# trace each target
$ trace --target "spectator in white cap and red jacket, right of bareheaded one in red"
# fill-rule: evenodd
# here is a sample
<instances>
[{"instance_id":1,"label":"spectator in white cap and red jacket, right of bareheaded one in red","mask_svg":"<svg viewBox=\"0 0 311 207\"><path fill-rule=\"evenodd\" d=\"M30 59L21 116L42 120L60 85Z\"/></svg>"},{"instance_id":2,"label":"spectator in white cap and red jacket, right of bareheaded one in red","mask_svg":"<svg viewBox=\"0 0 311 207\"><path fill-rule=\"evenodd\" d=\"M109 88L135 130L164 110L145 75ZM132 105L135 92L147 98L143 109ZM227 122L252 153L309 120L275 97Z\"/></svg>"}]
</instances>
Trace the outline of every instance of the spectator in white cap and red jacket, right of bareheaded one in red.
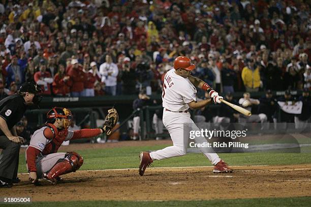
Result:
<instances>
[{"instance_id":1,"label":"spectator in white cap and red jacket, right of bareheaded one in red","mask_svg":"<svg viewBox=\"0 0 311 207\"><path fill-rule=\"evenodd\" d=\"M83 96L86 75L82 70L82 65L78 64L77 59L71 60L71 67L69 68L68 75L73 81L71 87L71 96Z\"/></svg>"}]
</instances>

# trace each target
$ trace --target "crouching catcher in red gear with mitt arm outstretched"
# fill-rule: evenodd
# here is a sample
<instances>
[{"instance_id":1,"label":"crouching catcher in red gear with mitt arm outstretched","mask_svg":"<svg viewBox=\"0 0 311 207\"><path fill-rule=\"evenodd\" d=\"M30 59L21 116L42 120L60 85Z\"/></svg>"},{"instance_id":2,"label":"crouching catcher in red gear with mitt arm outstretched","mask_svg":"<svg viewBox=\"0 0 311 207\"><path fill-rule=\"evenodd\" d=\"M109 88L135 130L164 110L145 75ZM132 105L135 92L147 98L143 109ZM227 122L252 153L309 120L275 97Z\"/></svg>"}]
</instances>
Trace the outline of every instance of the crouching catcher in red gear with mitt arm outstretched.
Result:
<instances>
[{"instance_id":1,"label":"crouching catcher in red gear with mitt arm outstretched","mask_svg":"<svg viewBox=\"0 0 311 207\"><path fill-rule=\"evenodd\" d=\"M108 110L103 127L96 129L70 131L68 127L71 120L71 111L55 107L47 113L47 122L34 132L26 150L29 180L33 183L42 178L55 185L62 180L59 176L79 169L83 164L83 157L76 152L57 153L61 143L104 132L109 135L118 121L118 113L114 108Z\"/></svg>"}]
</instances>

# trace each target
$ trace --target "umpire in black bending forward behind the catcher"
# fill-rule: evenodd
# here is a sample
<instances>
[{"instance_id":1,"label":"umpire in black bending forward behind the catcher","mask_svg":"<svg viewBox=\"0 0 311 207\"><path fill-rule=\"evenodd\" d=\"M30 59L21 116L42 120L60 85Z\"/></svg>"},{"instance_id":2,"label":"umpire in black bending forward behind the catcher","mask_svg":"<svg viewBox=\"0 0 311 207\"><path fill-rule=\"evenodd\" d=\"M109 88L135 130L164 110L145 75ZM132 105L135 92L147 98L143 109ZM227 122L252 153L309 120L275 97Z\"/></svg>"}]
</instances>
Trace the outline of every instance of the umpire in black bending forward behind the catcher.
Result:
<instances>
[{"instance_id":1,"label":"umpire in black bending forward behind the catcher","mask_svg":"<svg viewBox=\"0 0 311 207\"><path fill-rule=\"evenodd\" d=\"M0 101L0 187L10 188L18 183L18 158L23 137L17 136L15 124L23 117L28 106L37 105L42 99L42 89L33 82L20 86L17 93Z\"/></svg>"}]
</instances>

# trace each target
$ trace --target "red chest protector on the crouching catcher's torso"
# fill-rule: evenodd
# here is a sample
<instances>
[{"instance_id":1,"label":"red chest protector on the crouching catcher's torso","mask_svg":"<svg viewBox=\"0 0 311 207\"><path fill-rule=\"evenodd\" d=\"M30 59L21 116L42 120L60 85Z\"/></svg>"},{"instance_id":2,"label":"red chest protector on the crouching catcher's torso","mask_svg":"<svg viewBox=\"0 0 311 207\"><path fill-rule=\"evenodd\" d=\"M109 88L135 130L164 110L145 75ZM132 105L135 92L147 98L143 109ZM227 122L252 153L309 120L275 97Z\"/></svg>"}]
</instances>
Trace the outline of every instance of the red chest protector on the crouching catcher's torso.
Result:
<instances>
[{"instance_id":1,"label":"red chest protector on the crouching catcher's torso","mask_svg":"<svg viewBox=\"0 0 311 207\"><path fill-rule=\"evenodd\" d=\"M60 145L65 141L68 134L68 129L58 130L53 124L45 124L43 126L49 127L54 133L54 138L49 144L47 144L42 151L42 155L48 155L51 153L56 153Z\"/></svg>"}]
</instances>

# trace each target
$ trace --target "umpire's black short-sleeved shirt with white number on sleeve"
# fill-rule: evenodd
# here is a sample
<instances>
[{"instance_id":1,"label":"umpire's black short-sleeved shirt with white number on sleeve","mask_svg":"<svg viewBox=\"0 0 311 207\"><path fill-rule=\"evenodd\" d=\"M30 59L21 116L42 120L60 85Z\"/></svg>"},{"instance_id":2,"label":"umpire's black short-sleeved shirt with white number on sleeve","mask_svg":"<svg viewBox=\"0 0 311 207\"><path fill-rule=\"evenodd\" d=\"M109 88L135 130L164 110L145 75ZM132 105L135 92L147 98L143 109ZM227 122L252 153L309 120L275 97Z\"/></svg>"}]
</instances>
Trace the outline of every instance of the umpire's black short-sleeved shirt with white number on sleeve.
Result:
<instances>
[{"instance_id":1,"label":"umpire's black short-sleeved shirt with white number on sleeve","mask_svg":"<svg viewBox=\"0 0 311 207\"><path fill-rule=\"evenodd\" d=\"M24 98L17 93L0 100L0 116L6 120L9 130L20 121L26 108ZM0 135L5 135L1 129Z\"/></svg>"}]
</instances>

